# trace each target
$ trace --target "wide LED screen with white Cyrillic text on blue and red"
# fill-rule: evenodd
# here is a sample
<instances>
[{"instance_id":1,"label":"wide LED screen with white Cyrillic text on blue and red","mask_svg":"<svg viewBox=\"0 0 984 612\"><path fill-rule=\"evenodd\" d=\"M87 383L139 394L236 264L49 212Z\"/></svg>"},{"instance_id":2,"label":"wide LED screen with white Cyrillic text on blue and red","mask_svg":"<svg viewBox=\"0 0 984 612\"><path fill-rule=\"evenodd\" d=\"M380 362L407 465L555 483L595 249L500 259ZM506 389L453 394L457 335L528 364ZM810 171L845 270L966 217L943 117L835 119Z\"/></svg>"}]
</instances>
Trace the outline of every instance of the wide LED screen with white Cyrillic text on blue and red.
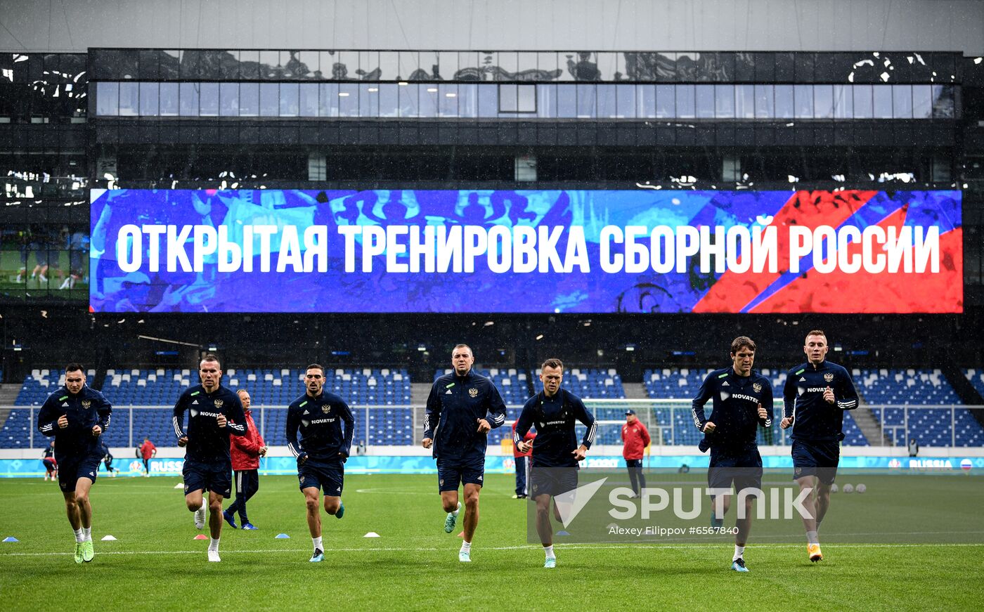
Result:
<instances>
[{"instance_id":1,"label":"wide LED screen with white Cyrillic text on blue and red","mask_svg":"<svg viewBox=\"0 0 984 612\"><path fill-rule=\"evenodd\" d=\"M953 313L957 191L93 190L93 312Z\"/></svg>"}]
</instances>

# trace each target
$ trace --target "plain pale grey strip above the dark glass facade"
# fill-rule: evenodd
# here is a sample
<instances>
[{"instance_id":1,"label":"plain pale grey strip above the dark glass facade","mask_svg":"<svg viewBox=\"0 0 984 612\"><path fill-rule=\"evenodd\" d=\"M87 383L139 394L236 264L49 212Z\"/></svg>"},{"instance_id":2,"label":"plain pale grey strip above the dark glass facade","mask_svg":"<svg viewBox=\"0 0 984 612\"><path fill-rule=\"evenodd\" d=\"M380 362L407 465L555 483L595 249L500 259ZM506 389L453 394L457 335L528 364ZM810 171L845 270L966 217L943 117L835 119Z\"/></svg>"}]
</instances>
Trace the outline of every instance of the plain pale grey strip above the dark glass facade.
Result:
<instances>
[{"instance_id":1,"label":"plain pale grey strip above the dark glass facade","mask_svg":"<svg viewBox=\"0 0 984 612\"><path fill-rule=\"evenodd\" d=\"M922 50L984 0L0 0L0 49Z\"/></svg>"}]
</instances>

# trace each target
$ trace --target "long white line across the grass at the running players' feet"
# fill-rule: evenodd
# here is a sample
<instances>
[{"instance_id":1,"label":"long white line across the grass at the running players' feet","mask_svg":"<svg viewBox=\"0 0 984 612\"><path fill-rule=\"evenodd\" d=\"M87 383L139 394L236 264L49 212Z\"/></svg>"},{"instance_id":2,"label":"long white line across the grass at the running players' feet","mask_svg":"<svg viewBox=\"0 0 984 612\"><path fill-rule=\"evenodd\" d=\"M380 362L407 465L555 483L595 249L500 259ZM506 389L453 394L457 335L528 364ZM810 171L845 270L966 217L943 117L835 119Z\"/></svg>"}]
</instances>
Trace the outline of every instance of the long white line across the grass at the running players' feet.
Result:
<instances>
[{"instance_id":1,"label":"long white line across the grass at the running players' feet","mask_svg":"<svg viewBox=\"0 0 984 612\"><path fill-rule=\"evenodd\" d=\"M674 545L674 544L633 544L631 542L626 542L624 544L570 544L558 545L562 550L582 550L582 549L593 549L593 550L609 550L609 549L625 549L625 548L646 548L646 549L671 549L671 550L706 550L708 548L719 548L719 547L730 547L731 544L690 544L690 545ZM831 549L833 548L934 548L934 547L961 547L961 546L984 546L984 543L922 543L922 544L827 544ZM802 548L802 544L759 544L754 546L755 548ZM534 550L541 548L540 544L523 544L521 546L490 546L487 548L479 548L479 550ZM265 549L265 550L223 550L221 554L236 554L236 555L250 555L250 554L268 554L268 553L302 553L309 552L310 548L275 548L275 549ZM326 548L324 552L436 552L436 551L448 551L450 548L433 548L433 547L414 547L414 546L394 546L394 547L376 547L376 548ZM57 556L71 556L74 553L0 553L0 557L57 557ZM99 551L97 555L201 555L201 550L110 550L110 551Z\"/></svg>"}]
</instances>

